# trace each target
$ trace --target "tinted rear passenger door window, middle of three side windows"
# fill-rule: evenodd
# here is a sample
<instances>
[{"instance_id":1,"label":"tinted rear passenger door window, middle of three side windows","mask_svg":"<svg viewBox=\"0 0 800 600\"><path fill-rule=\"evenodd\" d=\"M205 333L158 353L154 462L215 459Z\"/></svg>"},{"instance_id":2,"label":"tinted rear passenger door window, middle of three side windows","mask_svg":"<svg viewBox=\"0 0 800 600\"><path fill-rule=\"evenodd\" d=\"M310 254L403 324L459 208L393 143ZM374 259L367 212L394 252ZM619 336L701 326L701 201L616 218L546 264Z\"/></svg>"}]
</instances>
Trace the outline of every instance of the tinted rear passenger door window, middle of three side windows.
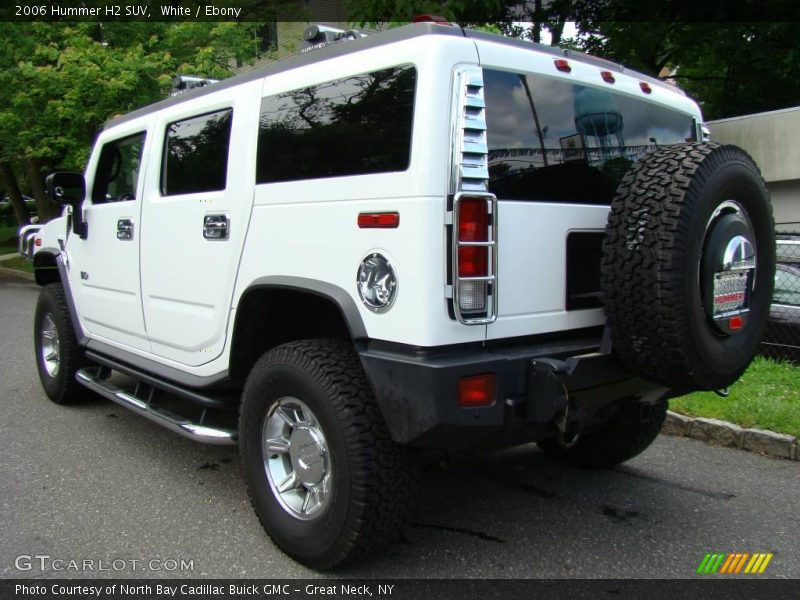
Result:
<instances>
[{"instance_id":1,"label":"tinted rear passenger door window, middle of three side windows","mask_svg":"<svg viewBox=\"0 0 800 600\"><path fill-rule=\"evenodd\" d=\"M167 126L161 193L164 196L224 190L233 110Z\"/></svg>"}]
</instances>

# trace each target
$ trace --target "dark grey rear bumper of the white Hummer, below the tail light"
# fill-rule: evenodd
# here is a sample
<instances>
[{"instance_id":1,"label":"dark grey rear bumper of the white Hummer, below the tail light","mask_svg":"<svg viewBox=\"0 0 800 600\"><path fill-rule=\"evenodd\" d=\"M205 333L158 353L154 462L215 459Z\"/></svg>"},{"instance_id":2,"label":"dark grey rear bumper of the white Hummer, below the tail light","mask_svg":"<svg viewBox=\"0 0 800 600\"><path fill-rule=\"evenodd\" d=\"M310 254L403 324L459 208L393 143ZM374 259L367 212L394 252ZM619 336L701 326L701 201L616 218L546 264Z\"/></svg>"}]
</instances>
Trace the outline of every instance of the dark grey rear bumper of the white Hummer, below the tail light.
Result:
<instances>
[{"instance_id":1,"label":"dark grey rear bumper of the white Hummer, below the tail light","mask_svg":"<svg viewBox=\"0 0 800 600\"><path fill-rule=\"evenodd\" d=\"M371 343L359 354L393 439L420 447L513 445L551 437L564 405L584 424L622 399L657 401L669 390L599 351L600 337L527 345L418 349ZM555 372L553 366L558 370ZM495 402L458 405L458 381L493 373Z\"/></svg>"}]
</instances>

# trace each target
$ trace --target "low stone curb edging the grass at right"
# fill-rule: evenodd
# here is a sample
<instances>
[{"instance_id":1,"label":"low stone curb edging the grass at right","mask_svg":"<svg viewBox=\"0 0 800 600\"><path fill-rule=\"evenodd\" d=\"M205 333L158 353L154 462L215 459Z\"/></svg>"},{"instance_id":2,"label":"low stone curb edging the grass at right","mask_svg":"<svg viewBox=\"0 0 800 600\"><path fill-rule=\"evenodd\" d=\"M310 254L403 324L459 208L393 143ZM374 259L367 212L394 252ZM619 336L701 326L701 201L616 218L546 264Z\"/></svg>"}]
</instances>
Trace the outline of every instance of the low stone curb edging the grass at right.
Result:
<instances>
[{"instance_id":1,"label":"low stone curb edging the grass at right","mask_svg":"<svg viewBox=\"0 0 800 600\"><path fill-rule=\"evenodd\" d=\"M745 429L719 419L687 417L669 410L661 433L688 437L714 446L800 461L800 450L797 448L795 436L764 429Z\"/></svg>"}]
</instances>

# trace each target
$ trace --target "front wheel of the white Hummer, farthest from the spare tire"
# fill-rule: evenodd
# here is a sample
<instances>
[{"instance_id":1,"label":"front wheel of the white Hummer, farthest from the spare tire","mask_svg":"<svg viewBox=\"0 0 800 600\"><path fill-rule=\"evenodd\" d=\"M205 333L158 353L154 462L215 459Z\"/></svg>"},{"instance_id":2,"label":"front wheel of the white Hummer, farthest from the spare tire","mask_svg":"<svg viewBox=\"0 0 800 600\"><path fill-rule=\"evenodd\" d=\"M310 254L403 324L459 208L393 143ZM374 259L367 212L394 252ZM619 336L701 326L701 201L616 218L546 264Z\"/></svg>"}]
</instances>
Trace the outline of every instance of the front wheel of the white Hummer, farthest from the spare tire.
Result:
<instances>
[{"instance_id":1,"label":"front wheel of the white Hummer, farthest from the spare tire","mask_svg":"<svg viewBox=\"0 0 800 600\"><path fill-rule=\"evenodd\" d=\"M39 301L36 303L33 328L36 367L47 397L56 404L80 402L89 392L77 382L75 373L87 363L75 338L75 330L67 308L67 298L60 283L50 283L41 289ZM48 361L45 360L44 329L54 330L58 336L55 349L58 358L57 368L53 367L52 361L48 367Z\"/></svg>"}]
</instances>

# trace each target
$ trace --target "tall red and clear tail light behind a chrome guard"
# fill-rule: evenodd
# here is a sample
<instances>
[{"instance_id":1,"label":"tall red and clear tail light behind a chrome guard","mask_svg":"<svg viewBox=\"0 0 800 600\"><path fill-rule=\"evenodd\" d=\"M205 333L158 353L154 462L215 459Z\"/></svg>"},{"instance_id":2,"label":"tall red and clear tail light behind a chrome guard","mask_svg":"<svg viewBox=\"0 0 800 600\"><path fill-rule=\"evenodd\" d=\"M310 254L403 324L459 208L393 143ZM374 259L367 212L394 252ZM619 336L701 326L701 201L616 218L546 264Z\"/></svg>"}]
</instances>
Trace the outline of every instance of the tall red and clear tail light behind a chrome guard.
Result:
<instances>
[{"instance_id":1,"label":"tall red and clear tail light behind a chrome guard","mask_svg":"<svg viewBox=\"0 0 800 600\"><path fill-rule=\"evenodd\" d=\"M462 323L491 323L496 313L497 200L492 194L462 194L453 211L454 312Z\"/></svg>"}]
</instances>

